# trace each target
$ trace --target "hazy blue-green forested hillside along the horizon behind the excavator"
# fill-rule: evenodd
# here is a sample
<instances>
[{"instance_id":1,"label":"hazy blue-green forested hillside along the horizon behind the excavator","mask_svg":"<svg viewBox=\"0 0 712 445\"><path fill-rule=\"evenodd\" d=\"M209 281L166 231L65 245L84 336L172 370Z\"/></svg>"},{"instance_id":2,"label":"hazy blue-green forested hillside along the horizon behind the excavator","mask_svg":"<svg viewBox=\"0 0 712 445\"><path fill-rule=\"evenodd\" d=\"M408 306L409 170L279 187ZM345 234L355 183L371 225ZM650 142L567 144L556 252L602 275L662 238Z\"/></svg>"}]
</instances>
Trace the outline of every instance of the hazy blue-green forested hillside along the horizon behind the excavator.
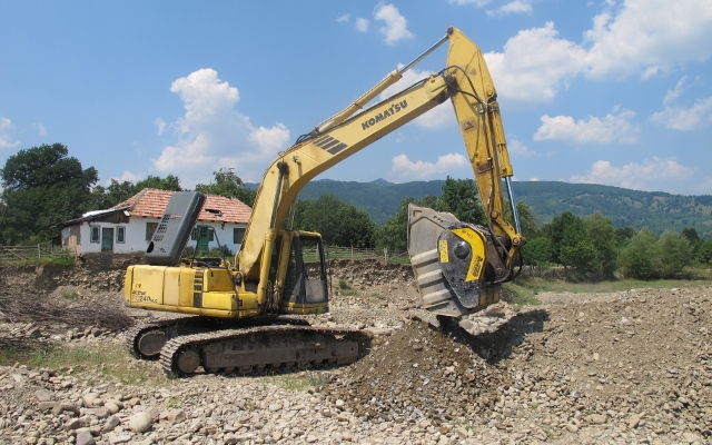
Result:
<instances>
[{"instance_id":1,"label":"hazy blue-green forested hillside along the horizon behind the excavator","mask_svg":"<svg viewBox=\"0 0 712 445\"><path fill-rule=\"evenodd\" d=\"M383 179L372 182L322 179L309 182L299 197L313 200L334 194L366 210L374 222L383 224L395 215L404 198L439 195L443 184L444 180L393 184ZM647 227L656 233L694 227L702 237L712 238L712 195L680 196L557 181L517 181L514 190L517 200L531 206L538 224L548 222L564 211L586 216L599 210L616 227Z\"/></svg>"}]
</instances>

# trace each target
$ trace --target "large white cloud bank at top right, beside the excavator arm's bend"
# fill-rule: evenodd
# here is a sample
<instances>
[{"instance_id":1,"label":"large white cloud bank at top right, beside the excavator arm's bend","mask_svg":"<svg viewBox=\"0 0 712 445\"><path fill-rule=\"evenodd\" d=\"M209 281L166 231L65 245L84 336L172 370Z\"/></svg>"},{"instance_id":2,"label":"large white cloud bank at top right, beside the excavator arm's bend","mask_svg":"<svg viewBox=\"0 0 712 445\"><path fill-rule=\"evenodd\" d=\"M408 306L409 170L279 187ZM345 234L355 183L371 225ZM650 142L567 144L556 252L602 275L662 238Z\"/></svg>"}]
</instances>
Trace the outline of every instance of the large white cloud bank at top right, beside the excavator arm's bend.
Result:
<instances>
[{"instance_id":1,"label":"large white cloud bank at top right, beside the excavator arm's bend","mask_svg":"<svg viewBox=\"0 0 712 445\"><path fill-rule=\"evenodd\" d=\"M521 30L503 52L485 58L502 97L538 102L552 99L580 76L645 79L706 60L712 56L710 41L709 0L625 0L617 6L609 2L580 42L561 38L548 22Z\"/></svg>"}]
</instances>

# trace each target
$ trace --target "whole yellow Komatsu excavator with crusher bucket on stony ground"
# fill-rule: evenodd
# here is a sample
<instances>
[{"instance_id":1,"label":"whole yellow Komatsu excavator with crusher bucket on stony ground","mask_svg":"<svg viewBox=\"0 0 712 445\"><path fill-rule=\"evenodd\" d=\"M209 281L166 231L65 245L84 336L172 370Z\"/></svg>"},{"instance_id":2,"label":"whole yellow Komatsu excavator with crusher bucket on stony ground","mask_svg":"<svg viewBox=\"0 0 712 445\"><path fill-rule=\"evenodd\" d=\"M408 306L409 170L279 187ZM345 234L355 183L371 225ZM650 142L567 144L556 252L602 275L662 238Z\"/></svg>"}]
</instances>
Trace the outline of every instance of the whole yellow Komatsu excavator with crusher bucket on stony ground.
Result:
<instances>
[{"instance_id":1,"label":"whole yellow Komatsu excavator with crusher bucket on stony ground","mask_svg":"<svg viewBox=\"0 0 712 445\"><path fill-rule=\"evenodd\" d=\"M367 107L445 42L446 68ZM459 317L496 303L501 284L515 275L525 243L496 96L481 50L449 28L413 62L279 154L259 185L234 264L180 259L205 197L195 191L174 195L147 249L148 265L127 269L125 298L131 307L184 316L135 327L127 336L131 354L160 359L169 376L340 365L362 357L369 345L365 333L285 317L326 313L329 297L322 237L291 230L290 210L316 175L448 99L488 225L408 208L408 253L421 306L438 316ZM514 225L505 217L504 189Z\"/></svg>"}]
</instances>

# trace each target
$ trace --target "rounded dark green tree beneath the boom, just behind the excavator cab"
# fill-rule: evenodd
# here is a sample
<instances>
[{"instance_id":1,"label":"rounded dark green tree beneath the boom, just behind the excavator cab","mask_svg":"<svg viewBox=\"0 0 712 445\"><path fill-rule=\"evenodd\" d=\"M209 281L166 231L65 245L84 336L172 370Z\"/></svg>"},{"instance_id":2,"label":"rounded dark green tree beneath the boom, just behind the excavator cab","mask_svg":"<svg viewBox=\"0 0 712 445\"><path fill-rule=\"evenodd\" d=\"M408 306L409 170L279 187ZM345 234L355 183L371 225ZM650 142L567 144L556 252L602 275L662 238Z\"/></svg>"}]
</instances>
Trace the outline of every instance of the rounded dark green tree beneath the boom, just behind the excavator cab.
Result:
<instances>
[{"instance_id":1,"label":"rounded dark green tree beneath the boom, just behind the excavator cab","mask_svg":"<svg viewBox=\"0 0 712 445\"><path fill-rule=\"evenodd\" d=\"M317 231L330 245L374 247L375 225L368 214L334 195L297 202L294 227Z\"/></svg>"}]
</instances>

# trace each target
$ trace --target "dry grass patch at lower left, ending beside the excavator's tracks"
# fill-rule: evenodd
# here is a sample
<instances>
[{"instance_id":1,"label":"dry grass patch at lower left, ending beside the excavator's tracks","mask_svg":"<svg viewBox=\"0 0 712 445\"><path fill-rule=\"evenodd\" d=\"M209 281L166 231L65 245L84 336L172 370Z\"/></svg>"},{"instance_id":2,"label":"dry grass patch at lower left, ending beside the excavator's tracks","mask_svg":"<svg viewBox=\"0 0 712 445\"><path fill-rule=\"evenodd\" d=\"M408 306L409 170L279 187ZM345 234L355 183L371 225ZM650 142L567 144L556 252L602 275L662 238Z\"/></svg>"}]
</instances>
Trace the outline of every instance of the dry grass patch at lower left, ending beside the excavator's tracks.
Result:
<instances>
[{"instance_id":1,"label":"dry grass patch at lower left, ending beside the excavator's tracks","mask_svg":"<svg viewBox=\"0 0 712 445\"><path fill-rule=\"evenodd\" d=\"M139 362L122 345L42 345L0 348L0 365L27 365L82 374L96 372L125 385L161 385L167 377L151 363ZM91 378L91 376L90 376Z\"/></svg>"}]
</instances>

